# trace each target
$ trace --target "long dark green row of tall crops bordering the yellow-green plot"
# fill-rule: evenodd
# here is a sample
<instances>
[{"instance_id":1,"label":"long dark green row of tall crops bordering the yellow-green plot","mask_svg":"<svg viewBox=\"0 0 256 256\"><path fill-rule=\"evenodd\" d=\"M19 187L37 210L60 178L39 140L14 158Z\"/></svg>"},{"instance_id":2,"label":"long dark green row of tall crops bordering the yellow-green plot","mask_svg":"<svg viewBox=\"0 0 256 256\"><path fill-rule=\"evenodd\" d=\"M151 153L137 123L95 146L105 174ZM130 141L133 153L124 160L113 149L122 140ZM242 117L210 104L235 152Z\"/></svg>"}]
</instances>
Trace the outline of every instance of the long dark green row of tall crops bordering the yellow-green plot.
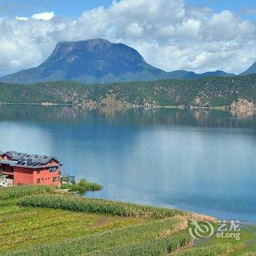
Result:
<instances>
[{"instance_id":1,"label":"long dark green row of tall crops bordering the yellow-green plot","mask_svg":"<svg viewBox=\"0 0 256 256\"><path fill-rule=\"evenodd\" d=\"M59 208L69 211L86 211L96 214L113 214L121 217L173 217L185 214L170 208L143 206L135 203L121 203L112 200L86 197L70 197L64 195L35 195L20 200L20 206Z\"/></svg>"}]
</instances>

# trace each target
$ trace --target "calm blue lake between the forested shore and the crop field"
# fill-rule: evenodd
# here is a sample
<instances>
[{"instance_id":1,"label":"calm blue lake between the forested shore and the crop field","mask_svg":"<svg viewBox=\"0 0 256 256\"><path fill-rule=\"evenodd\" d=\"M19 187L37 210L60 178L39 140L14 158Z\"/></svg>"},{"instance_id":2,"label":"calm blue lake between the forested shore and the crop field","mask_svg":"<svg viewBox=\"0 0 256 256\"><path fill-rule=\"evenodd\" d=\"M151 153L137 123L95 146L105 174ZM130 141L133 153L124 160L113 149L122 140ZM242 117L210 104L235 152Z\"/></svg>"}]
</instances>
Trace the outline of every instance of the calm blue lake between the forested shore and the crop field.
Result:
<instances>
[{"instance_id":1,"label":"calm blue lake between the forested shore and the crop field","mask_svg":"<svg viewBox=\"0 0 256 256\"><path fill-rule=\"evenodd\" d=\"M1 149L54 155L103 184L88 196L256 222L256 116L10 105L0 131Z\"/></svg>"}]
</instances>

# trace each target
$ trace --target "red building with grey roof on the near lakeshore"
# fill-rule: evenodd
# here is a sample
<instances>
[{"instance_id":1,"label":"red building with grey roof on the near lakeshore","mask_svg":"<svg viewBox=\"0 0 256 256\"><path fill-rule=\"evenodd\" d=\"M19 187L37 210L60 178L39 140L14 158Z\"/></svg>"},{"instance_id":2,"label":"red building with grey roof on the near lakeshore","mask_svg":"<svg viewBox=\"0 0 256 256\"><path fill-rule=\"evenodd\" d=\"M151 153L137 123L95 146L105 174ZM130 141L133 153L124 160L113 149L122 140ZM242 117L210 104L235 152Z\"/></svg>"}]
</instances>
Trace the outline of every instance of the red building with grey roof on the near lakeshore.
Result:
<instances>
[{"instance_id":1,"label":"red building with grey roof on the near lakeshore","mask_svg":"<svg viewBox=\"0 0 256 256\"><path fill-rule=\"evenodd\" d=\"M55 157L7 151L0 155L0 173L18 184L60 184L60 162Z\"/></svg>"}]
</instances>

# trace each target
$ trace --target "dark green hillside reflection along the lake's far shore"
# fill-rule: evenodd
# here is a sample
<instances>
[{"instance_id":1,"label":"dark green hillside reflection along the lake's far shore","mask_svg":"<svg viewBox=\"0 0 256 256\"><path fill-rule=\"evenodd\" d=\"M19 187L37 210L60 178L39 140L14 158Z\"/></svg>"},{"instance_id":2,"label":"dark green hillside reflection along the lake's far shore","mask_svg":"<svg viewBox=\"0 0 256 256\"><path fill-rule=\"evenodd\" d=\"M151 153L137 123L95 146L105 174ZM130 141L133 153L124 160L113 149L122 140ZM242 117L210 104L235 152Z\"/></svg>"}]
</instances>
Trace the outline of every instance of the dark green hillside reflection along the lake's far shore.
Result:
<instances>
[{"instance_id":1,"label":"dark green hillside reflection along the lake's far shore","mask_svg":"<svg viewBox=\"0 0 256 256\"><path fill-rule=\"evenodd\" d=\"M104 118L108 124L170 125L192 127L255 128L255 113L230 113L219 110L158 109L150 111L85 109L74 106L2 105L1 121L35 121L72 124L95 122Z\"/></svg>"}]
</instances>

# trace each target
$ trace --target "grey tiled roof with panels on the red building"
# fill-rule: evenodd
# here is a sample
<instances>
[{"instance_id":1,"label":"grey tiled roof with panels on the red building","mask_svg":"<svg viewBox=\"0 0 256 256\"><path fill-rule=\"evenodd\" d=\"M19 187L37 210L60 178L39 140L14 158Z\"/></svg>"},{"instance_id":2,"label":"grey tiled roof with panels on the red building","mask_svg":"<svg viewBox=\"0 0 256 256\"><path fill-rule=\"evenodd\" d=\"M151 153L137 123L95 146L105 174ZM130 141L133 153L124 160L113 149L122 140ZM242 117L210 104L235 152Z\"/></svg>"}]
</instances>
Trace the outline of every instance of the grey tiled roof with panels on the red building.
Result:
<instances>
[{"instance_id":1,"label":"grey tiled roof with panels on the red building","mask_svg":"<svg viewBox=\"0 0 256 256\"><path fill-rule=\"evenodd\" d=\"M7 151L0 156L7 155L9 160L0 159L0 164L8 163L11 166L18 166L18 167L29 167L29 168L39 168L42 165L46 165L50 160L55 160L59 163L59 160L53 156L44 156L39 154L26 154L26 153L19 153L16 151Z\"/></svg>"}]
</instances>

